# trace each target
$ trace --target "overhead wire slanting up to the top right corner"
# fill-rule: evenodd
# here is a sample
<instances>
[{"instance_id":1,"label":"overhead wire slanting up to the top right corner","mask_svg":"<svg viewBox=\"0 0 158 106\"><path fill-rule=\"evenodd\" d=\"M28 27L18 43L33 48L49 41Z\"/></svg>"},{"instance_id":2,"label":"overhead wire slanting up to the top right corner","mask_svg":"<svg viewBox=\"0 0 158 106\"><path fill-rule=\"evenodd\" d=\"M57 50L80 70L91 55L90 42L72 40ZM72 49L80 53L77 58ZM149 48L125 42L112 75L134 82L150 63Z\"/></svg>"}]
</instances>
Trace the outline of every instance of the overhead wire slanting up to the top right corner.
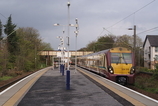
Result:
<instances>
[{"instance_id":1,"label":"overhead wire slanting up to the top right corner","mask_svg":"<svg viewBox=\"0 0 158 106\"><path fill-rule=\"evenodd\" d=\"M120 21L116 22L115 24L113 24L113 25L111 25L111 26L107 27L106 29L109 29L109 28L111 28L111 27L115 26L116 24L118 24L118 23L122 22L122 21L123 21L123 20L125 20L126 18L128 18L128 17L130 17L131 15L133 15L133 14L135 14L135 13L139 12L140 10L142 10L143 8L145 8L146 6L148 6L148 5L150 5L151 3L153 3L154 1L155 1L155 0L153 0L153 1L149 2L149 3L148 3L148 4L146 4L145 6L141 7L141 8L140 8L140 9L138 9L138 10L136 10L136 11L135 11L135 12L133 12L132 14L130 14L130 15L128 15L128 16L126 16L125 18L121 19Z\"/></svg>"}]
</instances>

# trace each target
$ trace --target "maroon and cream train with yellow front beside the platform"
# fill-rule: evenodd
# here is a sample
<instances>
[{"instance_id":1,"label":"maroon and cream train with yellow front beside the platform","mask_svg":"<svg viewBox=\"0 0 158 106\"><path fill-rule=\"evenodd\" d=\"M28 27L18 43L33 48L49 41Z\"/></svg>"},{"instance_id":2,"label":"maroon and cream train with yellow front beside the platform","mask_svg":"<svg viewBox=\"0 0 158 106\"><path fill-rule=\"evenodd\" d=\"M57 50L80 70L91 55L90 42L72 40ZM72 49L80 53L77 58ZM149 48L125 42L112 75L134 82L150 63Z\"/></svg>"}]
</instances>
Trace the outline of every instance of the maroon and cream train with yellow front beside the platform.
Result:
<instances>
[{"instance_id":1,"label":"maroon and cream train with yellow front beside the platform","mask_svg":"<svg viewBox=\"0 0 158 106\"><path fill-rule=\"evenodd\" d=\"M78 65L119 84L134 84L134 56L128 48L116 47L79 57Z\"/></svg>"}]
</instances>

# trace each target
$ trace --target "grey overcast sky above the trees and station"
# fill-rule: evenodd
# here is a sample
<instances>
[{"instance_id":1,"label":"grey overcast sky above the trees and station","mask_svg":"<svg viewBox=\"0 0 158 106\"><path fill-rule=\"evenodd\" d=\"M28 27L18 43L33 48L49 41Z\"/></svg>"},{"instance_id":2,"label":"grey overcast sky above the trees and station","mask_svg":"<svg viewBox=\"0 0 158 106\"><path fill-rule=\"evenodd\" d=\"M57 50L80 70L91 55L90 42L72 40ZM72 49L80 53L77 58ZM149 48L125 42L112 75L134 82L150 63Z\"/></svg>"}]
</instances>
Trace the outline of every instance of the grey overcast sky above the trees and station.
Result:
<instances>
[{"instance_id":1,"label":"grey overcast sky above the trees and station","mask_svg":"<svg viewBox=\"0 0 158 106\"><path fill-rule=\"evenodd\" d=\"M75 24L75 18L79 23L78 49L109 33L132 35L128 28L134 25L143 41L146 35L158 35L158 28L140 33L158 27L158 0L0 0L0 19L6 24L12 14L13 23L37 29L43 41L57 50L60 41L56 37L63 36L63 27L53 24L68 25L68 1L70 24ZM74 31L70 27L70 50L75 49Z\"/></svg>"}]
</instances>

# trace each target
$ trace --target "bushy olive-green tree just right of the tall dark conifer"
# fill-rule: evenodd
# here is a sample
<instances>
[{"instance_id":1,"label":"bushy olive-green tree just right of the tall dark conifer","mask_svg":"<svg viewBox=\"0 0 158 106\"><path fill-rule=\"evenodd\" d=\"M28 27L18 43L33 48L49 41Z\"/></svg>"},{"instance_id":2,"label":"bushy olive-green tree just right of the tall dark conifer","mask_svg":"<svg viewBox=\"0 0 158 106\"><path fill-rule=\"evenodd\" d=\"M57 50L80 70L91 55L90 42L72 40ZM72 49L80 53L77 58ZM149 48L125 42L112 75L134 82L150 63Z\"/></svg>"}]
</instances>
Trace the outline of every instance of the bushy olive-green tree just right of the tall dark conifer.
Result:
<instances>
[{"instance_id":1,"label":"bushy olive-green tree just right of the tall dark conifer","mask_svg":"<svg viewBox=\"0 0 158 106\"><path fill-rule=\"evenodd\" d=\"M48 49L52 50L50 44L42 42L38 30L31 27L19 28L17 36L20 45L20 52L16 60L18 70L31 71L38 68L38 65L42 64L39 60L39 52Z\"/></svg>"}]
</instances>

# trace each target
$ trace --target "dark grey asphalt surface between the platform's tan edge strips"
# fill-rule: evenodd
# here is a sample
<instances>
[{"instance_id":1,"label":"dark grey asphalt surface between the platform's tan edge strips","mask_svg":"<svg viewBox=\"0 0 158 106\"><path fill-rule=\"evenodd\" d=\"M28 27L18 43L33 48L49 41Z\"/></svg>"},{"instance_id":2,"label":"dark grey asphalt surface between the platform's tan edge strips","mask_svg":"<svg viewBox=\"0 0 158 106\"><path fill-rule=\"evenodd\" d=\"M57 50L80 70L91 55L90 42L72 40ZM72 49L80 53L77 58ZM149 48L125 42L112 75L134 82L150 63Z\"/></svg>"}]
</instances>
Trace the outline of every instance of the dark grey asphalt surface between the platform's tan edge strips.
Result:
<instances>
[{"instance_id":1,"label":"dark grey asphalt surface between the platform's tan edge strips","mask_svg":"<svg viewBox=\"0 0 158 106\"><path fill-rule=\"evenodd\" d=\"M70 89L59 69L49 69L28 91L18 106L130 106L121 104L84 75L70 68Z\"/></svg>"}]
</instances>

